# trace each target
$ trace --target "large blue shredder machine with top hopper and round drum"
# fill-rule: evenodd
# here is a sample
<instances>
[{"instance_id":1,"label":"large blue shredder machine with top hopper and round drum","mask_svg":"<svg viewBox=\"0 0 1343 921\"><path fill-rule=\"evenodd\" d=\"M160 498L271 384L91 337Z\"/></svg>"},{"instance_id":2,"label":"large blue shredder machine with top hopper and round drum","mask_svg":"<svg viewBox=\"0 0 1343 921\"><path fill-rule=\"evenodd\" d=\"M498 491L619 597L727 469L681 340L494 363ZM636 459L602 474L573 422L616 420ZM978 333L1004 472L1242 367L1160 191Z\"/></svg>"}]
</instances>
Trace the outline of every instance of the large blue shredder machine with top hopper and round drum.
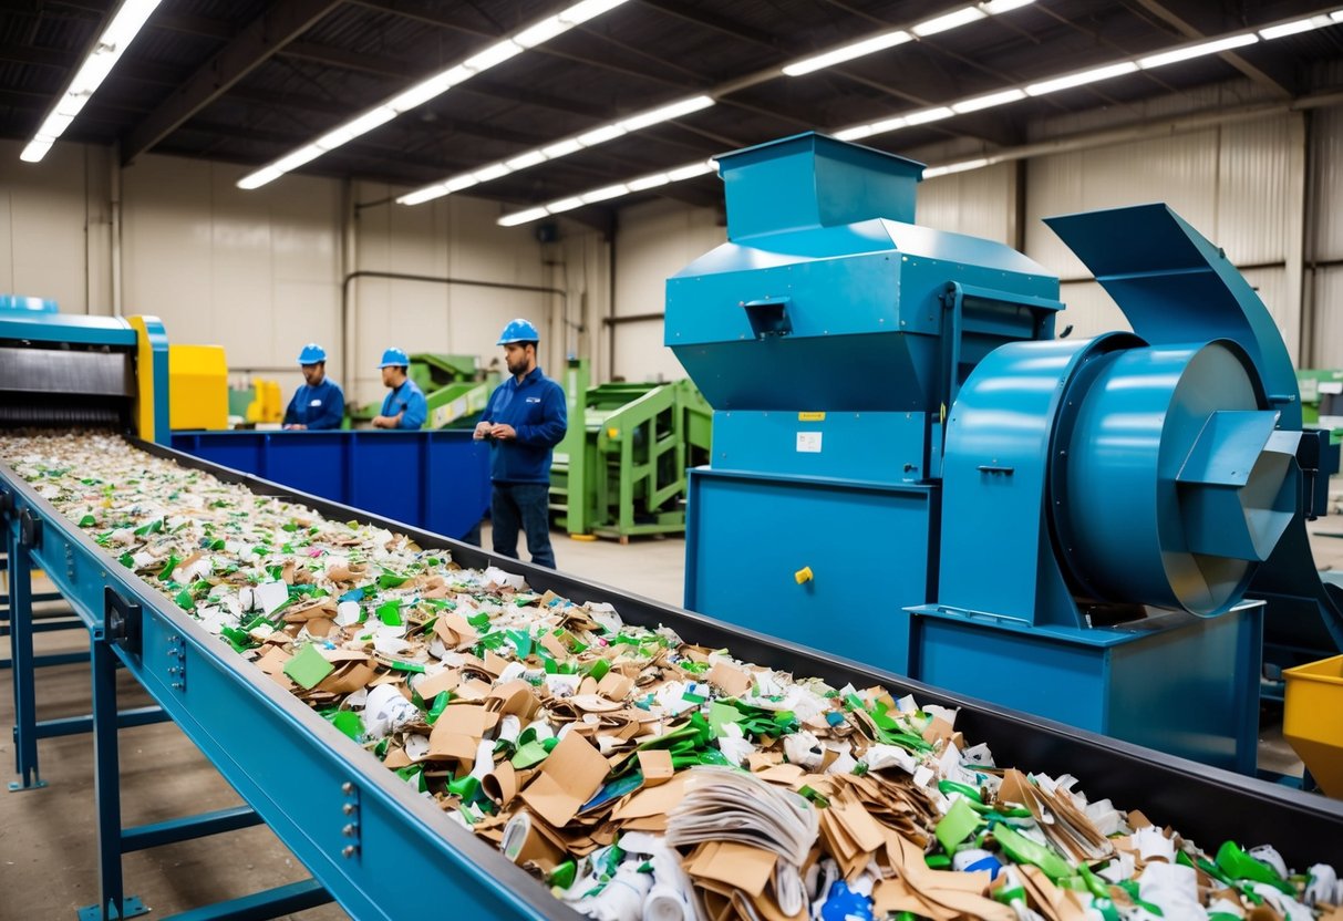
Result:
<instances>
[{"instance_id":1,"label":"large blue shredder machine with top hopper and round drum","mask_svg":"<svg viewBox=\"0 0 1343 921\"><path fill-rule=\"evenodd\" d=\"M1343 648L1303 524L1338 460L1221 251L1164 205L1048 220L1133 329L1056 340L1054 275L913 223L920 164L719 164L728 243L667 281L714 409L686 607L1253 771L1265 630Z\"/></svg>"}]
</instances>

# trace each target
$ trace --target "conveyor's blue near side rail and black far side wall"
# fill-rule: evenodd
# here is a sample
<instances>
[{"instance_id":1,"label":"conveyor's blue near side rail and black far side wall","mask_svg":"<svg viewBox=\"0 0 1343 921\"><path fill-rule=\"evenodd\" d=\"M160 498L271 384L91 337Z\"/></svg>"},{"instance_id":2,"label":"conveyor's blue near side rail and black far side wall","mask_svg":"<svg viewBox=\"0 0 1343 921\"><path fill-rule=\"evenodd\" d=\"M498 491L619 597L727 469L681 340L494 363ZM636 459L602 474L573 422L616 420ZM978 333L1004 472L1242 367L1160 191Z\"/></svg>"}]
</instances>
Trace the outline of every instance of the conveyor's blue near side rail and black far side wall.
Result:
<instances>
[{"instance_id":1,"label":"conveyor's blue near side rail and black far side wall","mask_svg":"<svg viewBox=\"0 0 1343 921\"><path fill-rule=\"evenodd\" d=\"M1054 776L1072 773L1093 800L1105 796L1121 808L1142 810L1205 846L1222 839L1266 840L1292 866L1343 863L1343 808L1338 803L962 701L893 674L821 658L694 614L294 495L274 483L153 444L132 444L224 482L243 483L259 495L302 502L333 520L406 532L422 548L450 549L465 567L504 564L522 573L537 591L553 591L579 604L611 601L626 623L666 626L686 642L729 648L745 662L815 675L837 687L881 683L896 695L912 693L924 704L962 708L956 729L971 741L988 744L998 764ZM8 514L27 522L23 526L32 538L34 557L90 624L106 627L107 589L140 607L138 631L125 631L118 657L352 914L404 917L415 910L435 910L450 891L463 908L475 906L490 917L573 917L528 874L416 796L270 678L239 661L157 589L109 565L89 536L8 467L0 467L0 487L11 495ZM185 679L183 673L169 671L177 667L172 663L185 670ZM302 777L302 783L277 783L277 764L285 765L285 776ZM348 831L352 803L359 816L353 854ZM403 885L400 881L407 878L419 885Z\"/></svg>"}]
</instances>

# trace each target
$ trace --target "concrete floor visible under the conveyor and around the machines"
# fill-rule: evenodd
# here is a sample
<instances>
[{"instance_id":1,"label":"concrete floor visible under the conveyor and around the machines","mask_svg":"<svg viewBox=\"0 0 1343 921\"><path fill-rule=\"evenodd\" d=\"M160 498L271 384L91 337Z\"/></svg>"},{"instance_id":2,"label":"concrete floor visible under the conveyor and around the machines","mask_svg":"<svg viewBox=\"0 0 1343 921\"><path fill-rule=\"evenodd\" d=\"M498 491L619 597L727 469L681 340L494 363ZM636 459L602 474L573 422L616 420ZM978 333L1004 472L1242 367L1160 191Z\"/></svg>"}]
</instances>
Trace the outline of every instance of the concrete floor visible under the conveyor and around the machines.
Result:
<instances>
[{"instance_id":1,"label":"concrete floor visible under the conveyor and around the machines","mask_svg":"<svg viewBox=\"0 0 1343 921\"><path fill-rule=\"evenodd\" d=\"M1343 569L1343 524L1338 518L1312 526L1316 561ZM1327 536L1327 534L1338 536ZM572 541L555 536L561 569L627 592L678 604L685 542L680 538ZM489 530L485 533L489 546ZM40 591L40 587L38 587ZM55 603L55 610L60 604ZM39 654L79 648L78 631L39 635ZM85 648L87 642L83 643ZM0 640L7 657L7 640ZM39 720L89 712L87 666L43 669L39 675ZM150 704L130 675L121 675L121 706ZM0 726L13 725L13 702L0 691ZM1261 745L1261 764L1281 773L1300 773L1300 763L1276 728ZM91 740L67 736L39 745L47 787L0 791L0 921L74 918L98 900L98 865L93 826ZM0 737L0 761L13 763L11 733ZM121 796L126 826L224 808L242 800L214 767L172 724L121 733ZM124 858L125 891L167 917L224 898L295 882L305 869L265 827L158 847ZM349 916L334 905L286 916L334 921Z\"/></svg>"}]
</instances>

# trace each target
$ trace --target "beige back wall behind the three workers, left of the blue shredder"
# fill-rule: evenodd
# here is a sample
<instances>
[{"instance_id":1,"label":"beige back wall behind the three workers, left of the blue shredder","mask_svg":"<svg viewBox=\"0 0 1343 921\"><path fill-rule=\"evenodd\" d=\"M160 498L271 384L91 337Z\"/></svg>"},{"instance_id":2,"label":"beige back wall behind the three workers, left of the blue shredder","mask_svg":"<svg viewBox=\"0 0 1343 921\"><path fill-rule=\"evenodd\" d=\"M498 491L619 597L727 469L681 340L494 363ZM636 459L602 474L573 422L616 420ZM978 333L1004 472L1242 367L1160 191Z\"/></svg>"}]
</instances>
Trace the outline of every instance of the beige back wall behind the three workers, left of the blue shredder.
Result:
<instances>
[{"instance_id":1,"label":"beige back wall behind the three workers, left of the blue shredder","mask_svg":"<svg viewBox=\"0 0 1343 921\"><path fill-rule=\"evenodd\" d=\"M110 314L110 150L58 144L32 165L19 160L20 148L0 141L0 293ZM489 362L500 356L504 324L526 316L545 334L547 369L559 373L565 311L557 295L388 279L351 285L352 354L342 367L341 279L352 269L559 287L569 293L571 330L600 328L608 310L608 246L591 231L565 226L563 242L543 246L535 227L498 227L497 203L384 203L360 209L351 256L341 183L286 176L243 192L234 185L242 172L145 156L121 173L124 313L157 314L172 342L223 345L232 369L297 387L294 358L316 340L346 393L372 401L383 393L375 365L387 345ZM353 188L356 201L389 193ZM575 350L590 346L572 333L569 341Z\"/></svg>"}]
</instances>

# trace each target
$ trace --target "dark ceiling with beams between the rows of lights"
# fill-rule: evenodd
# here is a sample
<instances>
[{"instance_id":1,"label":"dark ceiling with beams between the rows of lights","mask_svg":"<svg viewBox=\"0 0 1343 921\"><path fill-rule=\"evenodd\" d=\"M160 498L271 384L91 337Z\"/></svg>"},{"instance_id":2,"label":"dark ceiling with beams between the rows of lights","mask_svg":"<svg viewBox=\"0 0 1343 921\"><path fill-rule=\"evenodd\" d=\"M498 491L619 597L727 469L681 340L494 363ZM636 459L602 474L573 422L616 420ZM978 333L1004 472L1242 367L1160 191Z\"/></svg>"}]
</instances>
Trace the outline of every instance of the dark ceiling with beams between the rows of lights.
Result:
<instances>
[{"instance_id":1,"label":"dark ceiling with beams between the rows of lights","mask_svg":"<svg viewBox=\"0 0 1343 921\"><path fill-rule=\"evenodd\" d=\"M569 0L164 0L64 140L263 165ZM966 0L630 0L454 87L299 172L424 185L614 118L909 26ZM27 140L113 0L0 5L0 134ZM806 129L838 129L1095 63L1326 9L1301 0L1037 0L471 189L551 201ZM868 140L1026 140L1041 115L1124 106L1248 77L1296 98L1343 58L1343 26L1258 43ZM283 181L281 179L279 181ZM643 193L719 199L712 176ZM633 199L622 199L622 204ZM577 215L576 215L577 216Z\"/></svg>"}]
</instances>

